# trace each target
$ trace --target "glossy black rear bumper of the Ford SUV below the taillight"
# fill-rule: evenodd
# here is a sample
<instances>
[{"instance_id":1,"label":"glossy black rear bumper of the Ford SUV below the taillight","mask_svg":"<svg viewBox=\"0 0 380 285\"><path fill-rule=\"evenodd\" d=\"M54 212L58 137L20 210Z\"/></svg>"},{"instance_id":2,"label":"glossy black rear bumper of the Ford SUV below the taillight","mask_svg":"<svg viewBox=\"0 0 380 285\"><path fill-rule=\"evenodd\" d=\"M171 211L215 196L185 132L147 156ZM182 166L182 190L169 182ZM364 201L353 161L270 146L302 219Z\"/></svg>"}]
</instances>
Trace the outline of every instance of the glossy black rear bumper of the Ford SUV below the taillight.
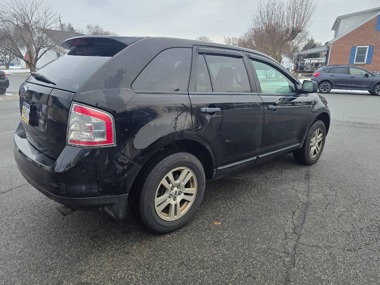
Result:
<instances>
[{"instance_id":1,"label":"glossy black rear bumper of the Ford SUV below the taillight","mask_svg":"<svg viewBox=\"0 0 380 285\"><path fill-rule=\"evenodd\" d=\"M21 174L38 191L77 210L103 210L121 220L140 166L117 147L65 146L57 160L35 149L22 123L14 134L14 158Z\"/></svg>"}]
</instances>

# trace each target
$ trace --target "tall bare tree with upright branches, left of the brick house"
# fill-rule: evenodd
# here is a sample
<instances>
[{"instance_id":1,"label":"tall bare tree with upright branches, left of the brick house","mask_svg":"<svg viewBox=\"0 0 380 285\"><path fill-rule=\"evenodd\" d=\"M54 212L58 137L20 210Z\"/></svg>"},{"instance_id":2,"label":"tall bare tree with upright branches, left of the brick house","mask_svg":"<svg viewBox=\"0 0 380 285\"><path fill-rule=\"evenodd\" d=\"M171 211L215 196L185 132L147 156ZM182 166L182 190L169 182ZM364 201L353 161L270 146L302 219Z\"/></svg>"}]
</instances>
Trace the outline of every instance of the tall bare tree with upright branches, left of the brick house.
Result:
<instances>
[{"instance_id":1,"label":"tall bare tree with upright branches, left of the brick house","mask_svg":"<svg viewBox=\"0 0 380 285\"><path fill-rule=\"evenodd\" d=\"M313 23L318 0L261 0L239 45L281 62L284 52L298 49Z\"/></svg>"}]
</instances>

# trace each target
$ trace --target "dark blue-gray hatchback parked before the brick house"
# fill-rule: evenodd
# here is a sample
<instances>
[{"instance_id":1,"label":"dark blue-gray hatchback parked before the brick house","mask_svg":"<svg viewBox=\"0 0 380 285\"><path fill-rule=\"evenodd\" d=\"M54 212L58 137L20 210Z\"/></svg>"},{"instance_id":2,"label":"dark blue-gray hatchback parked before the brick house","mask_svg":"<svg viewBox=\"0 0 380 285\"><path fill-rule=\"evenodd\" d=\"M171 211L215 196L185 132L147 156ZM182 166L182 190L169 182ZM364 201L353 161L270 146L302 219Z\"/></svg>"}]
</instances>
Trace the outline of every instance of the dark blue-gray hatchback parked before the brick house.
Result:
<instances>
[{"instance_id":1,"label":"dark blue-gray hatchback parked before the brick house","mask_svg":"<svg viewBox=\"0 0 380 285\"><path fill-rule=\"evenodd\" d=\"M380 76L355 65L328 65L319 68L312 77L321 93L329 93L331 89L367 90L380 96Z\"/></svg>"}]
</instances>

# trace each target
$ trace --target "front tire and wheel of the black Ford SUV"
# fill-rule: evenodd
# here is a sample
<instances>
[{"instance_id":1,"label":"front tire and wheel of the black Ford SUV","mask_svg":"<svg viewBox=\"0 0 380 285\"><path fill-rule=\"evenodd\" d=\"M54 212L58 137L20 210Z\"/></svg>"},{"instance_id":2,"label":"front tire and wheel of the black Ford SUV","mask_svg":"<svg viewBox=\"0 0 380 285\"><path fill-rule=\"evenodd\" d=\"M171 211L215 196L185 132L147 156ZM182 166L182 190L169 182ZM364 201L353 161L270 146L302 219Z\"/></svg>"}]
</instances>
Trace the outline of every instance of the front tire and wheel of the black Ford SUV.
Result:
<instances>
[{"instance_id":1,"label":"front tire and wheel of the black Ford SUV","mask_svg":"<svg viewBox=\"0 0 380 285\"><path fill-rule=\"evenodd\" d=\"M318 120L310 127L302 147L293 151L294 159L298 163L305 165L316 163L322 154L325 141L325 124L321 120Z\"/></svg>"}]
</instances>

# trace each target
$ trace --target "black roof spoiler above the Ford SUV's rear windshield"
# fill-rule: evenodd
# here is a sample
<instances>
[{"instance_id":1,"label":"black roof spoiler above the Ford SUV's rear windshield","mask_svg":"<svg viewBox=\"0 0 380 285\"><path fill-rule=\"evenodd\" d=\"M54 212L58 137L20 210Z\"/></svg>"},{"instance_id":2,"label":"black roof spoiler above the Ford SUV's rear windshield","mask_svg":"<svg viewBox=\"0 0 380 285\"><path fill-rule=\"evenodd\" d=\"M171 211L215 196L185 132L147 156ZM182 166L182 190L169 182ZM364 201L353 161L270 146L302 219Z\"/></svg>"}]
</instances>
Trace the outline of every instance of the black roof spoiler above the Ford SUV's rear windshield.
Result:
<instances>
[{"instance_id":1,"label":"black roof spoiler above the Ford SUV's rear windshield","mask_svg":"<svg viewBox=\"0 0 380 285\"><path fill-rule=\"evenodd\" d=\"M123 44L125 46L141 40L145 37L142 36L75 36L65 40L61 46L65 49L73 49L79 46L87 46L94 44Z\"/></svg>"}]
</instances>

